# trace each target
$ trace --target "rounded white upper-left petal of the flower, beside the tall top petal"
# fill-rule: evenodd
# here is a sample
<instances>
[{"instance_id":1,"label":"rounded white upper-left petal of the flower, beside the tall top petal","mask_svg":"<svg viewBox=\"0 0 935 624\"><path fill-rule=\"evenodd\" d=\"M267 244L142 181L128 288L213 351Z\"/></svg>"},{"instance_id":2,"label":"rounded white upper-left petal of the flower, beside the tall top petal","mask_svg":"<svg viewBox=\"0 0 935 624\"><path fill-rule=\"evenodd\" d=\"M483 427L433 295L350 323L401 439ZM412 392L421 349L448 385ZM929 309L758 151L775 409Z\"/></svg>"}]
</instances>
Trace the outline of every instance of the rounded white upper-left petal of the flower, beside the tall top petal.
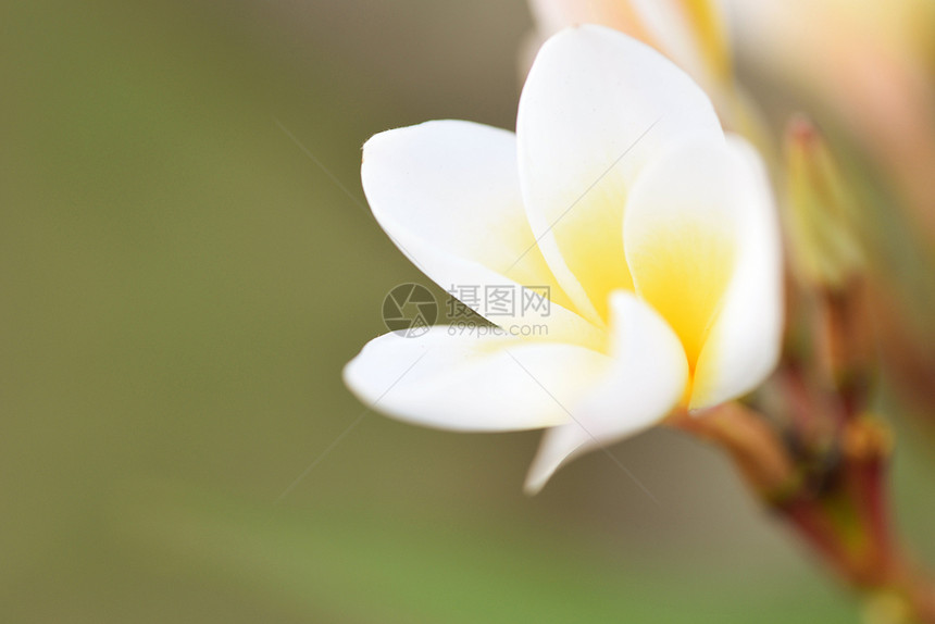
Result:
<instances>
[{"instance_id":1,"label":"rounded white upper-left petal of the flower, beside the tall top petal","mask_svg":"<svg viewBox=\"0 0 935 624\"><path fill-rule=\"evenodd\" d=\"M552 307L536 323L549 338L591 344L600 332L571 303L536 247L520 196L512 133L469 122L428 122L381 133L363 148L361 180L381 226L446 290L546 286ZM531 290L535 295L538 290ZM470 301L464 301L471 305ZM484 314L483 305L472 305ZM520 307L491 319L528 323Z\"/></svg>"}]
</instances>

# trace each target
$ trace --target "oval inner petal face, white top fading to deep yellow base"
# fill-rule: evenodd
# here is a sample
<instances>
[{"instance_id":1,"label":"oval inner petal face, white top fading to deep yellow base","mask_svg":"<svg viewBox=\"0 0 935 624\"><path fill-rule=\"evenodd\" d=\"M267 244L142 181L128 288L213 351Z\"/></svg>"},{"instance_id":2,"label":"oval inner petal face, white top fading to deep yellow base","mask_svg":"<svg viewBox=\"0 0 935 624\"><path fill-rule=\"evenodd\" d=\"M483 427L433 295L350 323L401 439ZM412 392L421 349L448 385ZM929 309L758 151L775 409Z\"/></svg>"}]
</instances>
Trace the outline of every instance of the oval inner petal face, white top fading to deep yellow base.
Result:
<instances>
[{"instance_id":1,"label":"oval inner petal face, white top fading to deep yellow base","mask_svg":"<svg viewBox=\"0 0 935 624\"><path fill-rule=\"evenodd\" d=\"M738 219L730 153L695 138L647 167L624 220L636 291L672 326L694 372L738 261Z\"/></svg>"}]
</instances>

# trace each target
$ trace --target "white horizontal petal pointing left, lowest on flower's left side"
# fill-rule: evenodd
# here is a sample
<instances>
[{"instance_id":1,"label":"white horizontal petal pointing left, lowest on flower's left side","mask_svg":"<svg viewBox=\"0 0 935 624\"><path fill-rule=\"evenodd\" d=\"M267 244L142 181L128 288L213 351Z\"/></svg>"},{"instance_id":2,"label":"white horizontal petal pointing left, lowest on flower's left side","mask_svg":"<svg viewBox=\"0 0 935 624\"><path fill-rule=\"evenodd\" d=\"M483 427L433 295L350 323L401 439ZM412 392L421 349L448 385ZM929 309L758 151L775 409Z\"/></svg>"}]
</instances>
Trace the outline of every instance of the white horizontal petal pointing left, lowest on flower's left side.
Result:
<instances>
[{"instance_id":1,"label":"white horizontal petal pointing left, lowest on flower's left side","mask_svg":"<svg viewBox=\"0 0 935 624\"><path fill-rule=\"evenodd\" d=\"M386 334L371 340L345 367L344 378L364 404L399 420L502 432L568 422L564 405L610 363L607 355L574 345L478 337L438 325L421 337Z\"/></svg>"}]
</instances>

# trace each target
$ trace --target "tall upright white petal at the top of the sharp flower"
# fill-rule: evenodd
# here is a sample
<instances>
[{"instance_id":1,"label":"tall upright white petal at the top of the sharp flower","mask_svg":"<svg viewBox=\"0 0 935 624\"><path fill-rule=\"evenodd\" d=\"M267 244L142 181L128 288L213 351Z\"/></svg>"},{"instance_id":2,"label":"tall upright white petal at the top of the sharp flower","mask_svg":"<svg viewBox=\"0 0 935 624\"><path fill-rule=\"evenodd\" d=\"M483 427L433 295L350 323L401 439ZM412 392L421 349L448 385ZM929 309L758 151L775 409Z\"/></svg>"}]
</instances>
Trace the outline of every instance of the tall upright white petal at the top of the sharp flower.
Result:
<instances>
[{"instance_id":1,"label":"tall upright white petal at the top of the sharp flower","mask_svg":"<svg viewBox=\"0 0 935 624\"><path fill-rule=\"evenodd\" d=\"M671 61L601 26L549 39L520 98L520 180L533 233L595 323L632 288L620 237L633 180L674 139L723 136L708 97Z\"/></svg>"}]
</instances>

